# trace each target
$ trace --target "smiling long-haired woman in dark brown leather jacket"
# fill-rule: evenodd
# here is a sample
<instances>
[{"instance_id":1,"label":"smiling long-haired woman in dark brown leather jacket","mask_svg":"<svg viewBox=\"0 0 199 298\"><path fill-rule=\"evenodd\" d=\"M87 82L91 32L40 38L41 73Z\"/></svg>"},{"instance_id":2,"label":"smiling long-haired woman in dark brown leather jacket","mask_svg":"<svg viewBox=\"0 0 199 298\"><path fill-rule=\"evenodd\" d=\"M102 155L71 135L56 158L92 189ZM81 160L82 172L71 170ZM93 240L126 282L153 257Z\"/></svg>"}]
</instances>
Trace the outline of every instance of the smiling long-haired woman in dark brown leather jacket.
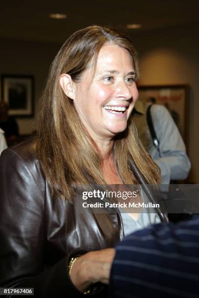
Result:
<instances>
[{"instance_id":1,"label":"smiling long-haired woman in dark brown leather jacket","mask_svg":"<svg viewBox=\"0 0 199 298\"><path fill-rule=\"evenodd\" d=\"M146 184L159 183L159 169L130 117L138 75L134 47L113 29L84 28L61 47L37 135L0 158L0 286L34 287L42 298L107 297L110 247L141 225L139 214L83 208L78 186L118 184L126 192L125 184L141 183L153 201ZM166 220L154 212L142 216L143 226Z\"/></svg>"}]
</instances>

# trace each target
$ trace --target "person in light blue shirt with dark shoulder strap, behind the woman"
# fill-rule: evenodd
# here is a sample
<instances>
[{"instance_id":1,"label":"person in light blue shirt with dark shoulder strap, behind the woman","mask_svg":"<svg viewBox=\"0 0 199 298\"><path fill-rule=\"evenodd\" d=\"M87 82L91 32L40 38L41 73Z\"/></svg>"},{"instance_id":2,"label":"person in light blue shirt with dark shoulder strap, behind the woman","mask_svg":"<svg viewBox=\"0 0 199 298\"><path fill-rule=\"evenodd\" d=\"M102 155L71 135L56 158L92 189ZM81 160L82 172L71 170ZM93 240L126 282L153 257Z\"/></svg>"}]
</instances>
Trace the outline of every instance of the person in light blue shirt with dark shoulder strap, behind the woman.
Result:
<instances>
[{"instance_id":1,"label":"person in light blue shirt with dark shoulder strap, behind the woman","mask_svg":"<svg viewBox=\"0 0 199 298\"><path fill-rule=\"evenodd\" d=\"M171 180L184 180L189 174L191 164L179 130L170 114L163 106L152 104L150 112L159 147L153 143L147 123L147 109L150 103L137 101L132 113L139 136L148 153L161 170L162 185Z\"/></svg>"}]
</instances>

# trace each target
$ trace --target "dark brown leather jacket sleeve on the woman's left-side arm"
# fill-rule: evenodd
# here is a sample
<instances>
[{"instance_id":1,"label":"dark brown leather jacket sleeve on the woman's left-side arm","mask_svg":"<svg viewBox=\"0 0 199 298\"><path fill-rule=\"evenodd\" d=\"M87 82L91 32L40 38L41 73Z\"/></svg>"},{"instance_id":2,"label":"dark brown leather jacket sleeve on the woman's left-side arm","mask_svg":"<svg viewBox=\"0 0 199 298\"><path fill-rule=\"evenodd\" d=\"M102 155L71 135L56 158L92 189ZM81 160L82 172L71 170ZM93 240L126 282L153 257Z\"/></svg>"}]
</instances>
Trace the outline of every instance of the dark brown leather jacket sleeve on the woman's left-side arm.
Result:
<instances>
[{"instance_id":1,"label":"dark brown leather jacket sleeve on the woman's left-side arm","mask_svg":"<svg viewBox=\"0 0 199 298\"><path fill-rule=\"evenodd\" d=\"M32 169L15 151L4 150L0 157L0 287L32 287L35 297L42 298L82 297L68 276L68 256L45 268L44 205L44 191Z\"/></svg>"}]
</instances>

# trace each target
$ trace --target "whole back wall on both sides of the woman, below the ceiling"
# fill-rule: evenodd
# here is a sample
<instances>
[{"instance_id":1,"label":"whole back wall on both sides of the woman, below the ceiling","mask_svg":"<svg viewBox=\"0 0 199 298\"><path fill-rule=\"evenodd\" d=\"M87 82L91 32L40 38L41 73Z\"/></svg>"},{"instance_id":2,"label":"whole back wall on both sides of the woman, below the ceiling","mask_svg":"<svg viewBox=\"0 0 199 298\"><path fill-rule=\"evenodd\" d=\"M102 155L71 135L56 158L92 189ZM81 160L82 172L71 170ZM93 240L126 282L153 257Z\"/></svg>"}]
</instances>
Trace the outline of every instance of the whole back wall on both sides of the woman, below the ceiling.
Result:
<instances>
[{"instance_id":1,"label":"whole back wall on both sides of the woman, below the ceiling","mask_svg":"<svg viewBox=\"0 0 199 298\"><path fill-rule=\"evenodd\" d=\"M199 25L141 32L132 35L140 57L140 84L189 84L190 181L199 184ZM59 44L0 40L0 74L35 76L37 109L50 63ZM18 118L20 133L31 133L34 118Z\"/></svg>"}]
</instances>

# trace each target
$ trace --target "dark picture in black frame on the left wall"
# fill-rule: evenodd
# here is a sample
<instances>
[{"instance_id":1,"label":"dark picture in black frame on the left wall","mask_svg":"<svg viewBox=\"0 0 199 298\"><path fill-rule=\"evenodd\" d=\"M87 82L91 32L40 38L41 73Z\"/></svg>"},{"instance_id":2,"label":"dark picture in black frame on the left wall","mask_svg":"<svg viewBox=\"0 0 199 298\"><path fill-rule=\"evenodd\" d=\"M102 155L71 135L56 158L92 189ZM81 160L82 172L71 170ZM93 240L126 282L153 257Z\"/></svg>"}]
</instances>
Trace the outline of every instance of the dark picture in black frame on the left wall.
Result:
<instances>
[{"instance_id":1,"label":"dark picture in black frame on the left wall","mask_svg":"<svg viewBox=\"0 0 199 298\"><path fill-rule=\"evenodd\" d=\"M34 77L32 75L1 75L1 98L9 104L10 116L32 116Z\"/></svg>"}]
</instances>

